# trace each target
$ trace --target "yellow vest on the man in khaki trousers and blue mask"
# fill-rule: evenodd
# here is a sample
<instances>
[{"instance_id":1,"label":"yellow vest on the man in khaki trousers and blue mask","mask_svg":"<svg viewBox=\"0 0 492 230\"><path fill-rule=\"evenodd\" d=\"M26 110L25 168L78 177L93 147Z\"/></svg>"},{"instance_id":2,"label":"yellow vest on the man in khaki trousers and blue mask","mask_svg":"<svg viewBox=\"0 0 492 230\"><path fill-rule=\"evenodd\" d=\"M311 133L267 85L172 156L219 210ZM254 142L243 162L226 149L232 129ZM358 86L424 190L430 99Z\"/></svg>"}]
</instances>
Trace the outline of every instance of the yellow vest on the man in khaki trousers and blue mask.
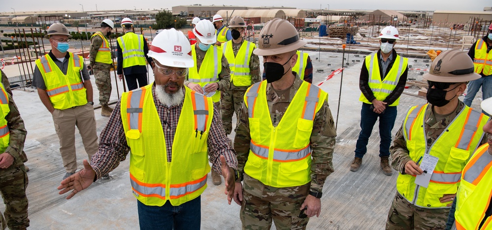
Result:
<instances>
[{"instance_id":1,"label":"yellow vest on the man in khaki trousers and blue mask","mask_svg":"<svg viewBox=\"0 0 492 230\"><path fill-rule=\"evenodd\" d=\"M49 55L36 60L37 68L46 85L46 93L53 107L58 110L87 104L86 88L82 83L84 62L78 55L69 54L66 75Z\"/></svg>"}]
</instances>

